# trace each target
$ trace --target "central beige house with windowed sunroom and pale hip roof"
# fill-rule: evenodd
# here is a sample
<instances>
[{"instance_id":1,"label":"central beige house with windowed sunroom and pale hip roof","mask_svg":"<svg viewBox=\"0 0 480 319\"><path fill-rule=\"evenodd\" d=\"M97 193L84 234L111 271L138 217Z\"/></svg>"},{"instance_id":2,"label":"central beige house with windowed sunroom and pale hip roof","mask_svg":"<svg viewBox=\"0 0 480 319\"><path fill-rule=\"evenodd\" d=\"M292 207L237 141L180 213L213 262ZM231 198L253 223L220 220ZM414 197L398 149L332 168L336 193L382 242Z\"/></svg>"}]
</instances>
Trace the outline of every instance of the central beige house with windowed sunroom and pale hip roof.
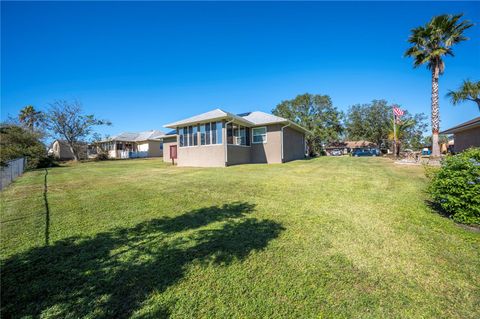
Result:
<instances>
[{"instance_id":1,"label":"central beige house with windowed sunroom and pale hip roof","mask_svg":"<svg viewBox=\"0 0 480 319\"><path fill-rule=\"evenodd\" d=\"M164 143L177 155L179 166L283 163L305 158L308 130L264 112L236 115L215 109L165 127L176 131Z\"/></svg>"}]
</instances>

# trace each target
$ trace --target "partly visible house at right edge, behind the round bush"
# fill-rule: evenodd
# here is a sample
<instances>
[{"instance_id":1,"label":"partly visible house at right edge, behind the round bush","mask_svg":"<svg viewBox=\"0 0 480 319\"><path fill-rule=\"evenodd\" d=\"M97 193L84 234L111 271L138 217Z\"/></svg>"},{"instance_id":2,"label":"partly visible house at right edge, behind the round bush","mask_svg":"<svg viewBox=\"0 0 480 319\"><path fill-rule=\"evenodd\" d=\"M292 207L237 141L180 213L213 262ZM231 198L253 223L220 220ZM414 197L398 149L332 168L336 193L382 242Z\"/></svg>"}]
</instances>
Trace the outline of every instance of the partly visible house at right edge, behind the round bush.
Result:
<instances>
[{"instance_id":1,"label":"partly visible house at right edge, behind the round bush","mask_svg":"<svg viewBox=\"0 0 480 319\"><path fill-rule=\"evenodd\" d=\"M470 147L480 147L480 117L459 124L440 134L453 134L453 152L458 153Z\"/></svg>"}]
</instances>

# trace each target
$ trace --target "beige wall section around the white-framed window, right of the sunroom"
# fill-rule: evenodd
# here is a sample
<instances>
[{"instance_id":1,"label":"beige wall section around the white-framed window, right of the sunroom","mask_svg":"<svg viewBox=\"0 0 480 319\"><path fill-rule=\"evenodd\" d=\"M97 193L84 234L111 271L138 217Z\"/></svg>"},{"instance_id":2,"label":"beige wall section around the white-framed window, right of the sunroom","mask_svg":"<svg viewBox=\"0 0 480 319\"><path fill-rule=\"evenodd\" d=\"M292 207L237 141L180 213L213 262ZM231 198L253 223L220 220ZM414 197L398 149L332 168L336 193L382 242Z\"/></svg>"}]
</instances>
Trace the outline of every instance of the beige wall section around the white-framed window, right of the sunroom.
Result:
<instances>
[{"instance_id":1,"label":"beige wall section around the white-framed window, right of the sunroom","mask_svg":"<svg viewBox=\"0 0 480 319\"><path fill-rule=\"evenodd\" d=\"M262 144L251 143L252 163L281 163L281 125L267 125L267 142ZM251 134L253 141L253 130Z\"/></svg>"}]
</instances>

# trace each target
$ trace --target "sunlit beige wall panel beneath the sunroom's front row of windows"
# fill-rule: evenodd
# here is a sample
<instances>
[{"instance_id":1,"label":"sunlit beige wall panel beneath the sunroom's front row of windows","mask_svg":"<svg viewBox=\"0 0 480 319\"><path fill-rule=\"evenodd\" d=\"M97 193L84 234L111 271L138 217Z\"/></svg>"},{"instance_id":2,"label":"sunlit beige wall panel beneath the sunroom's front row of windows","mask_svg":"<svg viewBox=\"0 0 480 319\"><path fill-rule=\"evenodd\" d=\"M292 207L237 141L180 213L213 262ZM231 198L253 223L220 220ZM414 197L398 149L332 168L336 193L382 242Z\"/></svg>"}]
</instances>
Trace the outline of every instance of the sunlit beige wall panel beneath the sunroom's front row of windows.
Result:
<instances>
[{"instance_id":1,"label":"sunlit beige wall panel beneath the sunroom's front row of windows","mask_svg":"<svg viewBox=\"0 0 480 319\"><path fill-rule=\"evenodd\" d=\"M178 166L225 166L225 145L204 145L177 148Z\"/></svg>"}]
</instances>

